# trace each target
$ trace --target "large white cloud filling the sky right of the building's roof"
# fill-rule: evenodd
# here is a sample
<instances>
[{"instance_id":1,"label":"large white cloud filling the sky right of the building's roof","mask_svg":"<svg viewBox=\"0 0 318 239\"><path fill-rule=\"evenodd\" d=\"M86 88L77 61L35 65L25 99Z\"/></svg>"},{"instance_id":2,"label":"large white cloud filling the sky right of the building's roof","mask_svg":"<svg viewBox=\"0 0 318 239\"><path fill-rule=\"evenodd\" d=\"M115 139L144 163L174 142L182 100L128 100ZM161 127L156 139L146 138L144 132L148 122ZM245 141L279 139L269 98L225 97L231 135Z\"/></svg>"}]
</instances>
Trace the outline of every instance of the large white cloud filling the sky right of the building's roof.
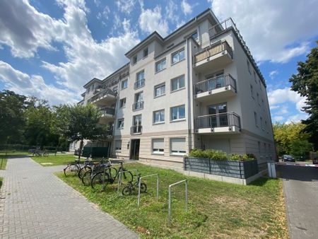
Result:
<instances>
[{"instance_id":1,"label":"large white cloud filling the sky right of the building's roof","mask_svg":"<svg viewBox=\"0 0 318 239\"><path fill-rule=\"evenodd\" d=\"M208 0L220 20L232 17L257 62L288 62L317 36L318 1Z\"/></svg>"}]
</instances>

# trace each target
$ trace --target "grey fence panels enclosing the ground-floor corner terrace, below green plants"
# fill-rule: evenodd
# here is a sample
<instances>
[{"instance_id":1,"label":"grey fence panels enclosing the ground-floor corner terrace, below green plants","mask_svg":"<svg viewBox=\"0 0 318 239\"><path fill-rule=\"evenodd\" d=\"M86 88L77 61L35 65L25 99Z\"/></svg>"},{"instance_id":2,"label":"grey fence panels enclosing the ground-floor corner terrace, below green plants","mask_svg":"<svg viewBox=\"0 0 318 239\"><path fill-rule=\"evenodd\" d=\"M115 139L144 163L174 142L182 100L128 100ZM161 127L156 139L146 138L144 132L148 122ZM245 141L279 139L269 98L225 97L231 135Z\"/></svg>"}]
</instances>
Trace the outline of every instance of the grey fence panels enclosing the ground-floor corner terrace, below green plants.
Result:
<instances>
[{"instance_id":1,"label":"grey fence panels enclosing the ground-floor corner terrace, below green plants","mask_svg":"<svg viewBox=\"0 0 318 239\"><path fill-rule=\"evenodd\" d=\"M184 158L184 170L245 179L259 173L257 160L218 161L192 157Z\"/></svg>"}]
</instances>

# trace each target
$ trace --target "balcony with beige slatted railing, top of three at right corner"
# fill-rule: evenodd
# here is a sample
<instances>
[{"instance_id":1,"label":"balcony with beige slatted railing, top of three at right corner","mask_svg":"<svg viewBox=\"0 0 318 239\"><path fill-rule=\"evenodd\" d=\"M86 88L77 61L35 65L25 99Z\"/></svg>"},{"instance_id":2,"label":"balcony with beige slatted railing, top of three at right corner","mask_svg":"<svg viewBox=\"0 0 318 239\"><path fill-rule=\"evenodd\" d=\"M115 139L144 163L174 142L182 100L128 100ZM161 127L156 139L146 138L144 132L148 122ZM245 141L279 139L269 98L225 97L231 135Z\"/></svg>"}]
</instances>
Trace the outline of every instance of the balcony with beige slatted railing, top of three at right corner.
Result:
<instances>
[{"instance_id":1,"label":"balcony with beige slatted railing, top of three at right corner","mask_svg":"<svg viewBox=\"0 0 318 239\"><path fill-rule=\"evenodd\" d=\"M196 71L220 69L232 62L232 57L232 48L228 42L217 42L194 55L194 69Z\"/></svg>"}]
</instances>

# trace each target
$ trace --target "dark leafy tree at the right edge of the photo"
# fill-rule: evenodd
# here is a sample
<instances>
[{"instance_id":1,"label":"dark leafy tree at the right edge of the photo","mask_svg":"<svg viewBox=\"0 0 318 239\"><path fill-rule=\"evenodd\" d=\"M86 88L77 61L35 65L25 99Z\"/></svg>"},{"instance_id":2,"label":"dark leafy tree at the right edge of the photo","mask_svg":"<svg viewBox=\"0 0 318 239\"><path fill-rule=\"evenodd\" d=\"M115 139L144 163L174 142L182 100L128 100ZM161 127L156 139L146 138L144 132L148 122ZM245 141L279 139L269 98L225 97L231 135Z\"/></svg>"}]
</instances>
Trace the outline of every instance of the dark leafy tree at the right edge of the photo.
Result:
<instances>
[{"instance_id":1,"label":"dark leafy tree at the right edge of the photo","mask_svg":"<svg viewBox=\"0 0 318 239\"><path fill-rule=\"evenodd\" d=\"M314 149L318 150L318 47L311 50L305 62L298 62L297 70L298 74L293 74L289 81L293 84L292 90L307 99L307 106L303 110L310 117L302 120L306 125L303 131L310 133L310 141L314 144Z\"/></svg>"}]
</instances>

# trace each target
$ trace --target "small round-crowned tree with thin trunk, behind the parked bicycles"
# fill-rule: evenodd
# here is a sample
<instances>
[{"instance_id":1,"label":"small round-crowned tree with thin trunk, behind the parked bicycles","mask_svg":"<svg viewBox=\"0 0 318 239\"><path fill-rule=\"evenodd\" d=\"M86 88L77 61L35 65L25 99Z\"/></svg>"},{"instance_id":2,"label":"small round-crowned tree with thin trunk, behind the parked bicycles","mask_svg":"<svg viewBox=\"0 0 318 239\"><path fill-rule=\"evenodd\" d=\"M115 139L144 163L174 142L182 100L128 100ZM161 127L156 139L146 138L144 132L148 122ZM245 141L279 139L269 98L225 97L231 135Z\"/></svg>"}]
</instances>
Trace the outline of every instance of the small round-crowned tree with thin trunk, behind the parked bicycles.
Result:
<instances>
[{"instance_id":1,"label":"small round-crowned tree with thin trunk, behind the parked bicycles","mask_svg":"<svg viewBox=\"0 0 318 239\"><path fill-rule=\"evenodd\" d=\"M98 124L102 114L94 105L59 105L54 109L55 132L69 141L81 141L78 158L81 157L84 139L94 141L107 134L107 128Z\"/></svg>"}]
</instances>

